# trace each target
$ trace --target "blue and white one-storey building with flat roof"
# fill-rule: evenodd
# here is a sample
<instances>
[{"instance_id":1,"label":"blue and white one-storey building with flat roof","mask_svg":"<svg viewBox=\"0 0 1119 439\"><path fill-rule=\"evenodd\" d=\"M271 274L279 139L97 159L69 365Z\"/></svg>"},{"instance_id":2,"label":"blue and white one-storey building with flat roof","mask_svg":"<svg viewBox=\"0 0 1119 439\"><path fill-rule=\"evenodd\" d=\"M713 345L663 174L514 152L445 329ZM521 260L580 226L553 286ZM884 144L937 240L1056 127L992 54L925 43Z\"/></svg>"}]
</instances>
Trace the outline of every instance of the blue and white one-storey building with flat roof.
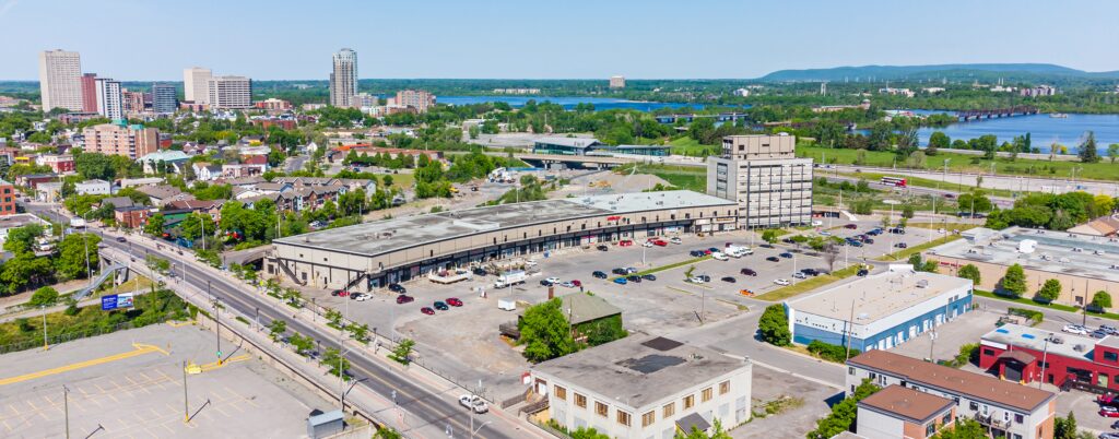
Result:
<instances>
[{"instance_id":1,"label":"blue and white one-storey building with flat roof","mask_svg":"<svg viewBox=\"0 0 1119 439\"><path fill-rule=\"evenodd\" d=\"M971 309L971 280L891 265L886 273L784 303L792 341L886 350Z\"/></svg>"}]
</instances>

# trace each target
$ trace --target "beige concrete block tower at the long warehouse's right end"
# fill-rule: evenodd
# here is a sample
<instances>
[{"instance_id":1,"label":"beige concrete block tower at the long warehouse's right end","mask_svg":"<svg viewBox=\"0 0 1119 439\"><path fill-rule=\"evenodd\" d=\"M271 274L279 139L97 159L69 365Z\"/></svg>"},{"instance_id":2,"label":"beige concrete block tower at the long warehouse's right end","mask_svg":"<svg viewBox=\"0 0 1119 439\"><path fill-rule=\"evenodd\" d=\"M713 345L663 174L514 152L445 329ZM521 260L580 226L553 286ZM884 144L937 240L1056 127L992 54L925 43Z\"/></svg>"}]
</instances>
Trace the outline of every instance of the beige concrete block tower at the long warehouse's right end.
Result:
<instances>
[{"instance_id":1,"label":"beige concrete block tower at the long warehouse's right end","mask_svg":"<svg viewBox=\"0 0 1119 439\"><path fill-rule=\"evenodd\" d=\"M812 220L812 159L797 159L791 135L723 137L707 158L707 194L739 203L739 228L807 225Z\"/></svg>"}]
</instances>

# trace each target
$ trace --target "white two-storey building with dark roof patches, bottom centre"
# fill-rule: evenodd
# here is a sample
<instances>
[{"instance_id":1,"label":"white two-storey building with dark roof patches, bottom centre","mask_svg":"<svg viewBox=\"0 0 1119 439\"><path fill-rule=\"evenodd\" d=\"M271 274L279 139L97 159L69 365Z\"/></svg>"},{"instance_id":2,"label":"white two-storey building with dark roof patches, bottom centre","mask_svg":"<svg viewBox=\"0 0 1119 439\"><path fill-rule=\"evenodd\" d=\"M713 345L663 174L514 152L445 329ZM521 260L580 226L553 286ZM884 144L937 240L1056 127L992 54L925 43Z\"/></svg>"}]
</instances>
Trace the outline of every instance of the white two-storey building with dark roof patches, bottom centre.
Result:
<instances>
[{"instance_id":1,"label":"white two-storey building with dark roof patches, bottom centre","mask_svg":"<svg viewBox=\"0 0 1119 439\"><path fill-rule=\"evenodd\" d=\"M532 385L570 431L671 439L747 421L752 371L750 360L633 334L533 366Z\"/></svg>"}]
</instances>

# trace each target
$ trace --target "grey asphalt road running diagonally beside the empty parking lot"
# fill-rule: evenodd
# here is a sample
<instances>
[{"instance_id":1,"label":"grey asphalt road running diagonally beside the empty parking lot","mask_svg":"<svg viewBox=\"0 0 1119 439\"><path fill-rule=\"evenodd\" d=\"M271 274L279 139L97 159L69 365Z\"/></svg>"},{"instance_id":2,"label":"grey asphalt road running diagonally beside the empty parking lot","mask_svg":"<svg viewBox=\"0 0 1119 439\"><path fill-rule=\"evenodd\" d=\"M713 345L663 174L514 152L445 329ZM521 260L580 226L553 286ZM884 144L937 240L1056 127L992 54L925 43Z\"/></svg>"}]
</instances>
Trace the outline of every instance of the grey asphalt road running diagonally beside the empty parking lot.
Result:
<instances>
[{"instance_id":1,"label":"grey asphalt road running diagonally beside the empty parking lot","mask_svg":"<svg viewBox=\"0 0 1119 439\"><path fill-rule=\"evenodd\" d=\"M102 242L104 242L105 246L116 248L121 251L130 251L129 242L117 242L114 239L105 239ZM303 335L310 335L317 340L322 349L339 347L336 336L329 335L320 331L318 327L309 325L300 319L289 317L286 311L281 312L274 308L273 305L262 300L260 297L253 294L246 294L242 287L232 285L228 279L213 275L208 270L197 267L195 265L196 263L190 260L190 254L185 254L185 257L177 257L177 255L171 255L167 251L159 251L156 248L147 246L145 244L141 244L139 240L132 240L131 251L139 256L141 250L161 255L172 263L181 263L186 259L187 264L175 264L176 267L172 271L182 276L186 281L195 285L199 289L206 289L208 285L209 290L215 298L227 306L237 309L244 315L252 316L258 312L262 325L267 325L271 321L280 318L288 322L289 330ZM383 395L385 399L393 399L393 394L395 392L396 403L402 409L412 413L415 418L421 419L425 422L425 424L442 427L450 423L454 427L454 431L469 431L469 412L459 407L457 401L448 400L449 398L457 398L457 395L434 393L429 389L411 382L408 378L397 374L389 368L365 356L357 355L354 352L346 354L346 357L351 364L349 372L356 380L359 381L358 385L364 385L373 392ZM478 437L513 439L526 436L526 431L520 430L517 424L497 418L492 414L482 416L481 419L483 421L492 422L489 426L490 428L479 432Z\"/></svg>"}]
</instances>

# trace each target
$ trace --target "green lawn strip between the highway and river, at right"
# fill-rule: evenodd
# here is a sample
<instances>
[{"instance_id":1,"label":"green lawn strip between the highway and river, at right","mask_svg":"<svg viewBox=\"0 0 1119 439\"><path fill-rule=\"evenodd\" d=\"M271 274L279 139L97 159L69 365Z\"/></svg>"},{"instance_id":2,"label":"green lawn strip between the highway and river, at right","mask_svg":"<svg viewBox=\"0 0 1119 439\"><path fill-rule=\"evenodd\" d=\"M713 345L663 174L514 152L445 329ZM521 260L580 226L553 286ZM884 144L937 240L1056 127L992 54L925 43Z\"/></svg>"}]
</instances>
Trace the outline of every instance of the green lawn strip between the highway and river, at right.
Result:
<instances>
[{"instance_id":1,"label":"green lawn strip between the highway and river, at right","mask_svg":"<svg viewBox=\"0 0 1119 439\"><path fill-rule=\"evenodd\" d=\"M858 150L830 149L824 146L797 145L797 155L816 159L818 163L854 164ZM896 155L888 151L867 151L866 165L891 168ZM1119 180L1119 164L1112 164L1107 159L1099 163L1063 162L1049 160L1009 158L984 160L979 155L940 152L925 160L925 170L942 170L944 159L949 159L948 169L951 172L989 173L990 164L995 163L998 174L1031 175L1040 178L1070 178L1072 169L1078 169L1076 176L1089 180ZM979 159L972 163L974 159Z\"/></svg>"}]
</instances>

